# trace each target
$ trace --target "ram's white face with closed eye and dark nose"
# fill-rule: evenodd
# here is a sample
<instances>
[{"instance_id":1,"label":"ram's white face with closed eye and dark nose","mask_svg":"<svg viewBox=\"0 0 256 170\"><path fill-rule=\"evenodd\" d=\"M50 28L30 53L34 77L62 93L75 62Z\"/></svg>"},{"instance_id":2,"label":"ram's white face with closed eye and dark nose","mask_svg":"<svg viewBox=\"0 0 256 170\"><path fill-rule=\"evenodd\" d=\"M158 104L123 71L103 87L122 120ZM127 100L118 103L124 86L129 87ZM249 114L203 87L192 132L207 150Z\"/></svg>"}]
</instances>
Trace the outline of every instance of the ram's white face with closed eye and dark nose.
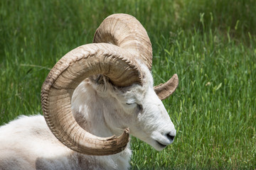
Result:
<instances>
[{"instance_id":1,"label":"ram's white face with closed eye and dark nose","mask_svg":"<svg viewBox=\"0 0 256 170\"><path fill-rule=\"evenodd\" d=\"M176 130L154 91L151 74L146 81L144 86L134 86L119 98L125 113L120 122L129 127L131 135L161 150L174 141Z\"/></svg>"}]
</instances>

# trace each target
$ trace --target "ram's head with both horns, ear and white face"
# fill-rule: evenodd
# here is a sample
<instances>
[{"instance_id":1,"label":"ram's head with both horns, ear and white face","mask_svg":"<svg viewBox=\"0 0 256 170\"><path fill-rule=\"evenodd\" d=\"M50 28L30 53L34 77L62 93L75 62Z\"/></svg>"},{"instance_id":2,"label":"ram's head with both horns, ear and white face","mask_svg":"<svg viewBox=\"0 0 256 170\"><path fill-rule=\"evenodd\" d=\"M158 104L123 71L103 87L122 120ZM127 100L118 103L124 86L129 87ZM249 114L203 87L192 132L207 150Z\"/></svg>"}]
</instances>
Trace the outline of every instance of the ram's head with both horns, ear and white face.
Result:
<instances>
[{"instance_id":1,"label":"ram's head with both horns, ear and white face","mask_svg":"<svg viewBox=\"0 0 256 170\"><path fill-rule=\"evenodd\" d=\"M43 115L55 137L75 152L93 155L121 152L129 141L129 128L132 135L158 150L171 144L176 130L161 100L175 91L178 77L174 74L165 84L154 87L151 62L151 42L141 23L127 14L107 17L97 28L94 43L68 52L42 86ZM127 120L132 125L119 137L92 135L73 117L73 92L82 80L94 75L107 77L112 86L131 91L126 93L130 99L120 103L125 113L136 112L137 117ZM146 92L139 96L139 91Z\"/></svg>"}]
</instances>

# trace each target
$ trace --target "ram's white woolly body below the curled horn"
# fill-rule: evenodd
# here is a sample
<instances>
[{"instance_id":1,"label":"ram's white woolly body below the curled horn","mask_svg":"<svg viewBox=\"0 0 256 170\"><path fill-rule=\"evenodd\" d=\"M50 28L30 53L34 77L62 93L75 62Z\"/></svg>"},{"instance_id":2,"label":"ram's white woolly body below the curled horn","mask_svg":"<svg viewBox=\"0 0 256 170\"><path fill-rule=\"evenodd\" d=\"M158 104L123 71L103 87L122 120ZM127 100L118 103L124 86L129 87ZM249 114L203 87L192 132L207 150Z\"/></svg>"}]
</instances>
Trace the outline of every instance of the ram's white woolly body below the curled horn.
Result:
<instances>
[{"instance_id":1,"label":"ram's white woolly body below the curled horn","mask_svg":"<svg viewBox=\"0 0 256 170\"><path fill-rule=\"evenodd\" d=\"M50 132L42 115L22 116L0 128L0 169L127 169L130 149L110 156L79 154Z\"/></svg>"}]
</instances>

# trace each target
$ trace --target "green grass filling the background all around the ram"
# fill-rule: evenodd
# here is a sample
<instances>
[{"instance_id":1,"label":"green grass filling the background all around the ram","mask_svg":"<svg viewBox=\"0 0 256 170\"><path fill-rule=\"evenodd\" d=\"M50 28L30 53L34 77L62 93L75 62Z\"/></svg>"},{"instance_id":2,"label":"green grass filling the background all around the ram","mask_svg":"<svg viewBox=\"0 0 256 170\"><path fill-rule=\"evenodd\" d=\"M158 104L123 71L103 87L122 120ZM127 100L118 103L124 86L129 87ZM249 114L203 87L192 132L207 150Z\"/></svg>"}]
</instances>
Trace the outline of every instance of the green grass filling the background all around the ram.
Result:
<instances>
[{"instance_id":1,"label":"green grass filling the background all around the ram","mask_svg":"<svg viewBox=\"0 0 256 170\"><path fill-rule=\"evenodd\" d=\"M0 1L0 125L41 113L49 69L92 42L104 18L146 28L155 84L177 73L164 101L177 130L156 152L132 138L132 169L255 169L256 1Z\"/></svg>"}]
</instances>

